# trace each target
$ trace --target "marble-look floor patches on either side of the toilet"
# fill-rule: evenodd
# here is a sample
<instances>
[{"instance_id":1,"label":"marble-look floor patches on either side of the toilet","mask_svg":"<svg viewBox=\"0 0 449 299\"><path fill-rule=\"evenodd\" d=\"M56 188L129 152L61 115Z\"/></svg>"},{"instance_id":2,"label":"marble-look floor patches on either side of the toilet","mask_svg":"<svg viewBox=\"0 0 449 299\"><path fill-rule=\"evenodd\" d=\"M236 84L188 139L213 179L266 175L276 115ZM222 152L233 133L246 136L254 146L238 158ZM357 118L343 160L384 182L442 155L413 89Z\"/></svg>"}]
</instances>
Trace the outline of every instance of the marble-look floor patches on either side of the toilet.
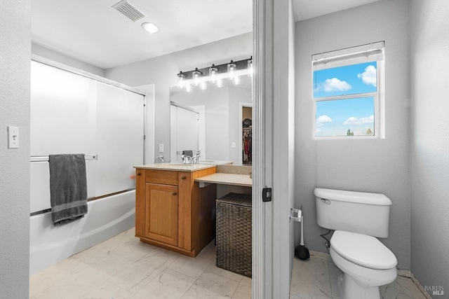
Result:
<instances>
[{"instance_id":1,"label":"marble-look floor patches on either side of the toilet","mask_svg":"<svg viewBox=\"0 0 449 299\"><path fill-rule=\"evenodd\" d=\"M340 299L337 277L342 271L325 253L311 253L308 260L293 260L290 299ZM408 277L399 276L387 286L380 287L382 299L426 299L417 285Z\"/></svg>"}]
</instances>

